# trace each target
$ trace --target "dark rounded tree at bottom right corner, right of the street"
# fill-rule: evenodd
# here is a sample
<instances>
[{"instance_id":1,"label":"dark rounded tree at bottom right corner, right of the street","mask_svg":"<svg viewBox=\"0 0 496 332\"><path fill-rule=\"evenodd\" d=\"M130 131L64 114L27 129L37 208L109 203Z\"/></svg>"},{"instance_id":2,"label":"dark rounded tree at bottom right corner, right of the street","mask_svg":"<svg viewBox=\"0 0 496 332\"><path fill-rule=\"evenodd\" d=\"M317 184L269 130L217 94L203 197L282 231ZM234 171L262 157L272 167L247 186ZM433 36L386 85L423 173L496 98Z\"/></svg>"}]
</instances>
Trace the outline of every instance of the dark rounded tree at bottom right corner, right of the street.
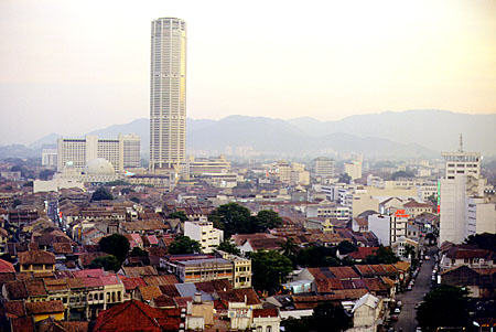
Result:
<instances>
[{"instance_id":1,"label":"dark rounded tree at bottom right corner, right of the street","mask_svg":"<svg viewBox=\"0 0 496 332\"><path fill-rule=\"evenodd\" d=\"M423 298L417 309L417 321L422 331L435 331L440 326L467 326L468 292L460 287L441 285Z\"/></svg>"}]
</instances>

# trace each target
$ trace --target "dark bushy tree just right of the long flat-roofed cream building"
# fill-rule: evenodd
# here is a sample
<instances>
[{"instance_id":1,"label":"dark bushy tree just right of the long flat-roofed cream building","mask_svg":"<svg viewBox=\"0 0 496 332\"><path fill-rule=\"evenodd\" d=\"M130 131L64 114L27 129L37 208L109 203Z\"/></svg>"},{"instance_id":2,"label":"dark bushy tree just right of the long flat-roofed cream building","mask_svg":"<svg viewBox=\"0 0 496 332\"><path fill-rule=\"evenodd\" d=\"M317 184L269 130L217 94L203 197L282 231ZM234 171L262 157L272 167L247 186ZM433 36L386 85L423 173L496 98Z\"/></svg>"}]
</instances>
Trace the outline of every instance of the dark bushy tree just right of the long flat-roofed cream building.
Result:
<instances>
[{"instance_id":1,"label":"dark bushy tree just right of the long flat-roofed cream building","mask_svg":"<svg viewBox=\"0 0 496 332\"><path fill-rule=\"evenodd\" d=\"M273 293L293 270L291 260L276 250L249 253L251 259L252 283L257 290Z\"/></svg>"}]
</instances>

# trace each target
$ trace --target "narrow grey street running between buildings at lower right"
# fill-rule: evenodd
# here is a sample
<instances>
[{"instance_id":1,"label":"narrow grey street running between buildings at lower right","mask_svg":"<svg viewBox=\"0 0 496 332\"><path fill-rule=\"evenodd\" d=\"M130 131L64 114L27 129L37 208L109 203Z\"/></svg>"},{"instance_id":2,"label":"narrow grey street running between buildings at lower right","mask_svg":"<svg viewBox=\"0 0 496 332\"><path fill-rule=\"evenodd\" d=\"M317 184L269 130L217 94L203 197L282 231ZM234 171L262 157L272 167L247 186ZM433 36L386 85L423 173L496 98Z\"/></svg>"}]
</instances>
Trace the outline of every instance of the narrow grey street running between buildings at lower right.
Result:
<instances>
[{"instance_id":1,"label":"narrow grey street running between buildings at lower right","mask_svg":"<svg viewBox=\"0 0 496 332\"><path fill-rule=\"evenodd\" d=\"M431 256L431 253L429 253L428 255ZM405 332L416 331L417 312L414 307L417 303L420 303L423 299L423 296L430 291L433 268L434 260L431 256L430 260L423 261L420 268L420 272L417 276L413 289L396 297L397 300L402 302L401 313L398 315L398 322L395 325L396 331L400 331L400 329L402 329L402 331Z\"/></svg>"}]
</instances>

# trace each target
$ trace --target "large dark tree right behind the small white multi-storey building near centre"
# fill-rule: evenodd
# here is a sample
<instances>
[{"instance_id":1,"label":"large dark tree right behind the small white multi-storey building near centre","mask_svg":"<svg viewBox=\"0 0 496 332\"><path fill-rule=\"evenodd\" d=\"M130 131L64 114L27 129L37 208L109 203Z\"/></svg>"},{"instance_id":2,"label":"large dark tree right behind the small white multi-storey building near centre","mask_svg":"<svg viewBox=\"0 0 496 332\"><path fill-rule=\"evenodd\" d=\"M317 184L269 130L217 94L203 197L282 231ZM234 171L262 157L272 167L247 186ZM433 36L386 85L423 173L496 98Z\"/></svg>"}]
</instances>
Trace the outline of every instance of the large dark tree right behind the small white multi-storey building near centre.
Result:
<instances>
[{"instance_id":1,"label":"large dark tree right behind the small white multi-storey building near centre","mask_svg":"<svg viewBox=\"0 0 496 332\"><path fill-rule=\"evenodd\" d=\"M224 231L224 236L230 238L233 234L254 233L250 211L236 203L218 206L208 215L214 227Z\"/></svg>"}]
</instances>

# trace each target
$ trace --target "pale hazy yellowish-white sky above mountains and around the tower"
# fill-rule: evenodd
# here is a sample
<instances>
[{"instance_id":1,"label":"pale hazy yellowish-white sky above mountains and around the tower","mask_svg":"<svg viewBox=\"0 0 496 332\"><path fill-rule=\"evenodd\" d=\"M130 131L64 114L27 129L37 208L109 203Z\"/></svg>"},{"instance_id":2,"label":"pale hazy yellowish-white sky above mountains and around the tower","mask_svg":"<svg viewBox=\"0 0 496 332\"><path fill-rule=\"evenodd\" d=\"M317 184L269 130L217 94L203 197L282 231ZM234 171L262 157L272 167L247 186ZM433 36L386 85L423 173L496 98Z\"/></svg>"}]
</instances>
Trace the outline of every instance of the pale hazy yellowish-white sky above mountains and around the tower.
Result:
<instances>
[{"instance_id":1,"label":"pale hazy yellowish-white sky above mountains and around the tower","mask_svg":"<svg viewBox=\"0 0 496 332\"><path fill-rule=\"evenodd\" d=\"M496 113L496 0L0 0L0 144L149 116L150 21L187 22L187 116Z\"/></svg>"}]
</instances>

